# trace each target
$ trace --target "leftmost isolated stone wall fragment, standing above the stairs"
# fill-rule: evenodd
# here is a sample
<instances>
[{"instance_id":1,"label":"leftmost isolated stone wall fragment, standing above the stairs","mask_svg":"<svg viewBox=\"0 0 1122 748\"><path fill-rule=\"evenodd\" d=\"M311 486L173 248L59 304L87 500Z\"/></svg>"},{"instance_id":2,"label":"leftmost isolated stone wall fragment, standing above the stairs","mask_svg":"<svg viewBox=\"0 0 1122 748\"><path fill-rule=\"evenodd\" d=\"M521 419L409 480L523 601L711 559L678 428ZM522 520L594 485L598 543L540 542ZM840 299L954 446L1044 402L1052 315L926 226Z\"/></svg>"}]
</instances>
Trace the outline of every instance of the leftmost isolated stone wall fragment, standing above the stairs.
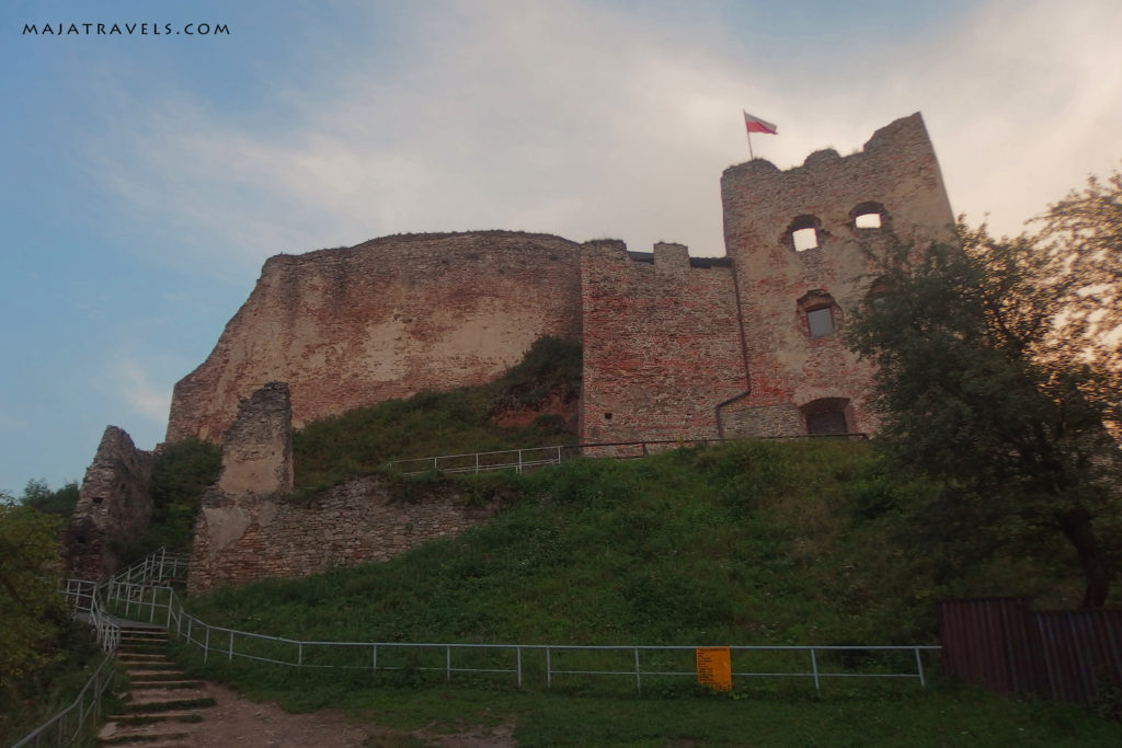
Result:
<instances>
[{"instance_id":1,"label":"leftmost isolated stone wall fragment, standing above the stairs","mask_svg":"<svg viewBox=\"0 0 1122 748\"><path fill-rule=\"evenodd\" d=\"M105 428L64 534L67 574L103 581L119 569L119 553L140 539L151 519L155 461L123 428Z\"/></svg>"}]
</instances>

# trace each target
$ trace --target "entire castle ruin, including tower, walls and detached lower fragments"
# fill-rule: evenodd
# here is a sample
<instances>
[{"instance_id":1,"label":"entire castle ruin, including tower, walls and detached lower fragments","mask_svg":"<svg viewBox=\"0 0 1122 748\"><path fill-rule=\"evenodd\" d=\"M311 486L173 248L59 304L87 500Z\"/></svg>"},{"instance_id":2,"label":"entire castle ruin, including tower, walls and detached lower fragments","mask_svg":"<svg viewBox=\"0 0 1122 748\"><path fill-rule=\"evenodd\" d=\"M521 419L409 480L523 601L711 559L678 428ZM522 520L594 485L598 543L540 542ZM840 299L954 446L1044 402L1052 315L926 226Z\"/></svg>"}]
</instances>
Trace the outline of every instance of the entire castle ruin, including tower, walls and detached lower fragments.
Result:
<instances>
[{"instance_id":1,"label":"entire castle ruin, including tower, walls and detached lower fragments","mask_svg":"<svg viewBox=\"0 0 1122 748\"><path fill-rule=\"evenodd\" d=\"M173 394L167 441L223 444L223 474L196 525L192 588L385 558L480 521L495 508L480 515L453 496L403 507L375 479L306 506L276 501L292 487L291 428L484 384L544 335L582 343L586 444L876 431L870 364L838 333L875 298L885 250L954 237L920 116L849 156L821 150L785 172L763 159L729 167L721 201L720 258L675 243L636 252L485 231L267 260ZM101 575L112 560L94 556L109 536L135 532L105 518L137 504L130 487L145 470L148 453L107 432L71 533Z\"/></svg>"}]
</instances>

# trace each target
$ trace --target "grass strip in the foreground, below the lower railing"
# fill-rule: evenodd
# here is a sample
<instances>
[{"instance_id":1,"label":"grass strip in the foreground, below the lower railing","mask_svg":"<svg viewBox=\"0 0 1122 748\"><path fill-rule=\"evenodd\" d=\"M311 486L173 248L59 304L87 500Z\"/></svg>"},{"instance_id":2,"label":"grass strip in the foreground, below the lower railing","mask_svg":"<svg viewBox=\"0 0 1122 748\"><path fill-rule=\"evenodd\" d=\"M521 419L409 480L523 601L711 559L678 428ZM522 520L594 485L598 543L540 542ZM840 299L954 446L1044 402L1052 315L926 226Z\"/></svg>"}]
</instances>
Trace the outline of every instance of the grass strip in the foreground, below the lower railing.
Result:
<instances>
[{"instance_id":1,"label":"grass strip in the foreground, below the lower railing","mask_svg":"<svg viewBox=\"0 0 1122 748\"><path fill-rule=\"evenodd\" d=\"M292 711L342 709L377 724L373 746L432 746L441 736L486 736L513 726L533 746L1111 746L1122 724L1086 709L1001 699L936 685L894 693L846 687L792 695L755 689L734 695L604 695L433 684L370 685L364 676L234 681L257 700Z\"/></svg>"}]
</instances>

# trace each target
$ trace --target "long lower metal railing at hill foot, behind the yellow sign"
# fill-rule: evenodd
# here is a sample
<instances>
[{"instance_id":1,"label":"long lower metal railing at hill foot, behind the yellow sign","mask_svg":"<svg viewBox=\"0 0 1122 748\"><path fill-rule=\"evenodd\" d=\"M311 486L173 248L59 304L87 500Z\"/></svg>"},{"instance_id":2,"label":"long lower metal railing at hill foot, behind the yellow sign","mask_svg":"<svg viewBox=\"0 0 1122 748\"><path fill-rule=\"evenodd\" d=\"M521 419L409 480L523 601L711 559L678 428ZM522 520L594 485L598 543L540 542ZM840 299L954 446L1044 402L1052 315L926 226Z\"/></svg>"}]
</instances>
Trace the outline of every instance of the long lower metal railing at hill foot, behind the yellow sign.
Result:
<instances>
[{"instance_id":1,"label":"long lower metal railing at hill foot, behind the yellow sign","mask_svg":"<svg viewBox=\"0 0 1122 748\"><path fill-rule=\"evenodd\" d=\"M534 676L545 689L568 676L624 676L634 680L638 692L644 678L697 676L695 645L305 641L211 626L186 612L167 587L111 583L107 603L134 619L165 627L171 639L197 650L204 664L239 658L309 669L441 673L447 681L453 674L491 674L509 676L519 687ZM854 677L908 680L926 686L923 654L938 650L920 645L729 647L734 680L802 680L818 691L824 681Z\"/></svg>"}]
</instances>

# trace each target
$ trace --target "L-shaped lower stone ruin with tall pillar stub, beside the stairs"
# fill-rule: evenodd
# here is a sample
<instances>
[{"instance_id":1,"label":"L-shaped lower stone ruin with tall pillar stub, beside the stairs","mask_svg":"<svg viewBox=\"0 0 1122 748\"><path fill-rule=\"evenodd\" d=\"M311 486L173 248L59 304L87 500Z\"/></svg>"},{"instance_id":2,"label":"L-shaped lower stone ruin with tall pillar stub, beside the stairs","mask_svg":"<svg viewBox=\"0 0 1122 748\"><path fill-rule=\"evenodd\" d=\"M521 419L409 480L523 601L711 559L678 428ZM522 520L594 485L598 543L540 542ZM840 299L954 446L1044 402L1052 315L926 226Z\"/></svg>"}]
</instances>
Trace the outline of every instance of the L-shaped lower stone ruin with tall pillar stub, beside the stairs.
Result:
<instances>
[{"instance_id":1,"label":"L-shaped lower stone ruin with tall pillar stub, beside the stairs","mask_svg":"<svg viewBox=\"0 0 1122 748\"><path fill-rule=\"evenodd\" d=\"M242 398L222 444L222 475L202 497L191 553L191 592L272 576L386 561L419 543L494 516L448 486L416 489L360 478L294 500L288 388Z\"/></svg>"}]
</instances>

